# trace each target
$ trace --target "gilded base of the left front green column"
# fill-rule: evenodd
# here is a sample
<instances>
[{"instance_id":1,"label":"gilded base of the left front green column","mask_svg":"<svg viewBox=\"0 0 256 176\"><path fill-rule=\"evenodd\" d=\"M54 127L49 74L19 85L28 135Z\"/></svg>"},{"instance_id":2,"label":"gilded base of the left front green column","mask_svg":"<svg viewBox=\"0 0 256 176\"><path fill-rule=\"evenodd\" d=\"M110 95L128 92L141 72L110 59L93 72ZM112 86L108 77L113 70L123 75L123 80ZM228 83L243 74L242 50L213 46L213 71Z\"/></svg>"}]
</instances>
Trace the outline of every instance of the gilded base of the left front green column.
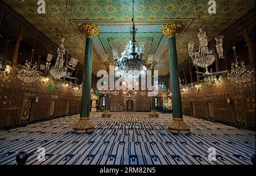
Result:
<instances>
[{"instance_id":1,"label":"gilded base of the left front green column","mask_svg":"<svg viewBox=\"0 0 256 176\"><path fill-rule=\"evenodd\" d=\"M73 132L77 134L91 133L94 131L94 123L90 118L80 118L80 120L73 126Z\"/></svg>"}]
</instances>

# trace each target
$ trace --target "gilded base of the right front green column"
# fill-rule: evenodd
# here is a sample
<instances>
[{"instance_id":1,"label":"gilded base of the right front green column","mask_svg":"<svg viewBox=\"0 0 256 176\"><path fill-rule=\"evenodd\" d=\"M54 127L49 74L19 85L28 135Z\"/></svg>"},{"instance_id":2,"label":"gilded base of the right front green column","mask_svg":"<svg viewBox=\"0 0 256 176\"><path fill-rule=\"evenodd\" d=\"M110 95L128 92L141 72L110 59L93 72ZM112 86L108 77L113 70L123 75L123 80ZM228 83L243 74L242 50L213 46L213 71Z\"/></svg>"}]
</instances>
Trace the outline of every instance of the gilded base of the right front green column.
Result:
<instances>
[{"instance_id":1,"label":"gilded base of the right front green column","mask_svg":"<svg viewBox=\"0 0 256 176\"><path fill-rule=\"evenodd\" d=\"M189 134L190 127L183 121L182 118L172 118L168 125L169 131L172 134Z\"/></svg>"}]
</instances>

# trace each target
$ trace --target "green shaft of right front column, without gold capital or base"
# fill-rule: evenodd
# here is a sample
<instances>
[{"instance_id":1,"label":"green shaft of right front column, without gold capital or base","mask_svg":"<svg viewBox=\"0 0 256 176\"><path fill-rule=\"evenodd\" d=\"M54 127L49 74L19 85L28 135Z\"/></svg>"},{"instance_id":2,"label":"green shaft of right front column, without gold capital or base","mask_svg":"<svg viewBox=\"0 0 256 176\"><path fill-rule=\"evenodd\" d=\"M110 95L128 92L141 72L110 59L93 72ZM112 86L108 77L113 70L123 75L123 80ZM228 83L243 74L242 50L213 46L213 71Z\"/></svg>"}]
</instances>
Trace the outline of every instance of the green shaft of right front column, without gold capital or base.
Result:
<instances>
[{"instance_id":1,"label":"green shaft of right front column, without gold capital or base","mask_svg":"<svg viewBox=\"0 0 256 176\"><path fill-rule=\"evenodd\" d=\"M180 97L180 83L177 65L177 51L175 36L168 37L170 78L172 92L172 114L174 118L182 118L182 106Z\"/></svg>"}]
</instances>

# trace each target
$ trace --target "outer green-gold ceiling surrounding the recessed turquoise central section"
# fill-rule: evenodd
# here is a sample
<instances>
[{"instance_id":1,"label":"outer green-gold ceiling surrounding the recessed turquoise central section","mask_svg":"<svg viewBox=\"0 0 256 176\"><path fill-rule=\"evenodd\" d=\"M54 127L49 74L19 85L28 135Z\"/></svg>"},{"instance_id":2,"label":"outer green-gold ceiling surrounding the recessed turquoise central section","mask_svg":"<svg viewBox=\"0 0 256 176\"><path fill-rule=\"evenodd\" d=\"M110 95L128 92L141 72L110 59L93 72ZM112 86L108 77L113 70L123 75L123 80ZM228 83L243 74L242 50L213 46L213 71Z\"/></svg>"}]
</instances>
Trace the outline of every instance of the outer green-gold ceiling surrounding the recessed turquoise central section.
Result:
<instances>
[{"instance_id":1,"label":"outer green-gold ceiling surrounding the recessed turquoise central section","mask_svg":"<svg viewBox=\"0 0 256 176\"><path fill-rule=\"evenodd\" d=\"M46 14L38 14L36 9L38 5L35 1L7 1L20 15L24 16L28 22L35 25L39 31L49 37L56 43L59 42L59 38L56 37L55 27L58 28L58 32L62 31L65 12L65 1L55 0L46 1ZM72 19L88 19L88 20L117 20L132 18L132 1L130 0L114 0L114 1L72 1L68 4L68 19L70 19L72 4ZM217 1L217 14L208 14L208 1L197 1L199 6L199 13L201 16L204 29L207 31L209 41L213 40L215 36L220 34L229 25L236 22L237 19L245 15L249 10L255 7L254 0L236 0L236 1ZM193 23L189 25L184 32L183 37L177 42L179 63L188 58L187 43L189 41L196 42L197 48L197 32L199 29L199 19L197 19L197 12L195 1L192 0L179 0L179 1L162 1L162 0L148 0L135 1L135 20L150 20L150 19L195 19ZM96 23L97 24L97 23ZM75 28L66 23L66 44L65 47L69 53L79 59L83 63L84 59L84 44L82 38L76 32ZM56 40L57 39L57 40ZM77 50L81 50L81 53L77 53L73 46L77 45ZM81 45L80 45L81 44ZM167 45L167 43L166 43ZM100 51L98 51L100 53ZM103 57L103 55L101 55ZM163 65L168 64L165 62ZM164 70L168 67L163 68ZM163 74L166 74L164 71Z\"/></svg>"}]
</instances>

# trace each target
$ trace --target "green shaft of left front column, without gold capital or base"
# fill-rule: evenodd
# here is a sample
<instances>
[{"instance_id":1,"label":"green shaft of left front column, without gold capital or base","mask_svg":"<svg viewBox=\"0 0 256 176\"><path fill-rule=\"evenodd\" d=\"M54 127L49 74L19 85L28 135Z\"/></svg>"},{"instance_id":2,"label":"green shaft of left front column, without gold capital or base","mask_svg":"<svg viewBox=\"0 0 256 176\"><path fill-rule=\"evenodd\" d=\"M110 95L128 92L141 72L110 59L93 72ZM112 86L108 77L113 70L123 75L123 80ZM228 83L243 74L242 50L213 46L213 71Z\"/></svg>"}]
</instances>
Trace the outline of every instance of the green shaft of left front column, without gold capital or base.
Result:
<instances>
[{"instance_id":1,"label":"green shaft of left front column, without gold capital or base","mask_svg":"<svg viewBox=\"0 0 256 176\"><path fill-rule=\"evenodd\" d=\"M90 116L90 89L92 82L93 38L87 37L85 44L84 75L82 78L82 106L80 117Z\"/></svg>"}]
</instances>

